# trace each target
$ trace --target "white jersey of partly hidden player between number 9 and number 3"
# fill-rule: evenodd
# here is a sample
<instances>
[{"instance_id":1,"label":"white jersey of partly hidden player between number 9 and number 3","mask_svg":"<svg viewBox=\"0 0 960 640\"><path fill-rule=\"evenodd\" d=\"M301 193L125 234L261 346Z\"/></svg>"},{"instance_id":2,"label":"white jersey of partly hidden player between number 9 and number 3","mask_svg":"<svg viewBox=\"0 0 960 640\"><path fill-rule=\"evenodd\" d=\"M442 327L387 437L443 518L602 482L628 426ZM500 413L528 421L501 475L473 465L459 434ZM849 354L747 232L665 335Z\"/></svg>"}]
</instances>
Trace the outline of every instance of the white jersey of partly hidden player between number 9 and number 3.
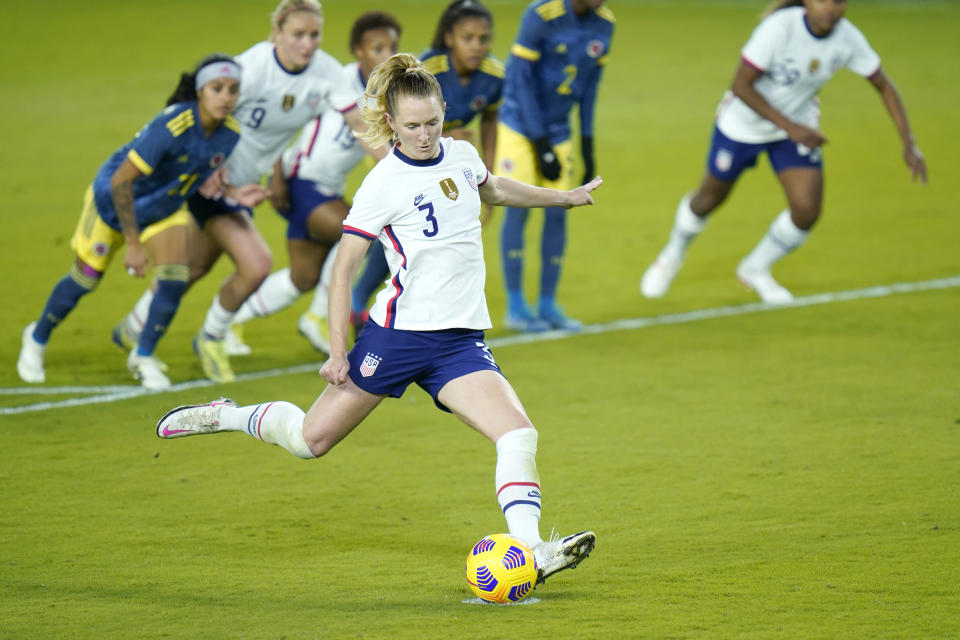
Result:
<instances>
[{"instance_id":1,"label":"white jersey of partly hidden player between number 9 and number 3","mask_svg":"<svg viewBox=\"0 0 960 640\"><path fill-rule=\"evenodd\" d=\"M343 67L340 82L349 88L355 100L363 98L366 87L359 64L351 62ZM328 109L303 128L297 144L283 152L283 174L314 181L324 195L343 196L347 174L365 154L343 113Z\"/></svg>"}]
</instances>

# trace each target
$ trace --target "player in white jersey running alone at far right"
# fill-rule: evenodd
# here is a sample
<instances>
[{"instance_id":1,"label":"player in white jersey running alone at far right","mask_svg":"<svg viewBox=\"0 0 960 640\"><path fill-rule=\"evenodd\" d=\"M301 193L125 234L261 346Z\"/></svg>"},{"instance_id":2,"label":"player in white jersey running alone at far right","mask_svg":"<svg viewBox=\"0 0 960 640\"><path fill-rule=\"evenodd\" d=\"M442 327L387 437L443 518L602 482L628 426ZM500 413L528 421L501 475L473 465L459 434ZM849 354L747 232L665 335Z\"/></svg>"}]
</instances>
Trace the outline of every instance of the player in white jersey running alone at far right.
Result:
<instances>
[{"instance_id":1,"label":"player in white jersey running alone at far right","mask_svg":"<svg viewBox=\"0 0 960 640\"><path fill-rule=\"evenodd\" d=\"M736 272L764 302L793 300L770 269L803 244L820 216L826 138L819 130L817 92L842 68L863 76L880 93L914 180L926 183L926 165L900 95L867 39L843 17L846 9L846 0L781 1L756 27L741 50L733 86L718 107L707 171L699 188L680 200L670 238L640 281L643 295L659 298L667 293L707 216L730 194L741 172L754 166L765 151L788 208Z\"/></svg>"}]
</instances>

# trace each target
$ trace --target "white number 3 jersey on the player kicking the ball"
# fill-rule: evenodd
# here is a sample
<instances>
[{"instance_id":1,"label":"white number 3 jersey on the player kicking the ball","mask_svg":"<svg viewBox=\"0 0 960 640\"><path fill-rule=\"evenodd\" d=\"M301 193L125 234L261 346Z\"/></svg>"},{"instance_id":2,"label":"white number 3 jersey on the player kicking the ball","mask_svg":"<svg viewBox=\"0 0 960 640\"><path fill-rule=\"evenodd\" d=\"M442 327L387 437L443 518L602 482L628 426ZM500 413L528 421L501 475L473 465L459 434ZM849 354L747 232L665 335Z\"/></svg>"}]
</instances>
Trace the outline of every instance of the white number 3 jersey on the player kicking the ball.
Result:
<instances>
[{"instance_id":1,"label":"white number 3 jersey on the player kicking the ball","mask_svg":"<svg viewBox=\"0 0 960 640\"><path fill-rule=\"evenodd\" d=\"M480 193L489 177L473 145L443 138L440 155L412 160L395 147L354 197L344 233L379 238L390 280L370 317L382 327L489 329Z\"/></svg>"}]
</instances>

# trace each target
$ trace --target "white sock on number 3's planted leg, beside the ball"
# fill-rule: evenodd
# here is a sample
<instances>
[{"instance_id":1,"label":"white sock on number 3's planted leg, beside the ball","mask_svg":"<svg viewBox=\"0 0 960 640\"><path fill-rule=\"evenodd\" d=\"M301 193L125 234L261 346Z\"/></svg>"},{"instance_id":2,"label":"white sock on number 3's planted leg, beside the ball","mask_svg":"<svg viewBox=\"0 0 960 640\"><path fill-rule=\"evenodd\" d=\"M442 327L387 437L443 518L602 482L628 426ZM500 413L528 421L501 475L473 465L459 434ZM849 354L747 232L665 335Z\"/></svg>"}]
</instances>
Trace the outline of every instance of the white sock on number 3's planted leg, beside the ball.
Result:
<instances>
[{"instance_id":1,"label":"white sock on number 3's planted leg, beside the ball","mask_svg":"<svg viewBox=\"0 0 960 640\"><path fill-rule=\"evenodd\" d=\"M497 440L497 501L510 535L530 548L540 538L540 474L537 473L537 430L514 429Z\"/></svg>"}]
</instances>

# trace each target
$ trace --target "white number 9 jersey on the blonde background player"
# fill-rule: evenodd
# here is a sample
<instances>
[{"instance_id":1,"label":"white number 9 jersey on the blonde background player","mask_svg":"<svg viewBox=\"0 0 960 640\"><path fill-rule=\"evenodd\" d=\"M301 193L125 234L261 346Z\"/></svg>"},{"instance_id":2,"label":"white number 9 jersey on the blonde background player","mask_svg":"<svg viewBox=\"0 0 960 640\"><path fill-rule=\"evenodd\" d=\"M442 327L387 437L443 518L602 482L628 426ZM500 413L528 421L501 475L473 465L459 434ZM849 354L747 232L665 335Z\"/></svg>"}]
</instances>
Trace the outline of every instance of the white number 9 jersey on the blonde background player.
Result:
<instances>
[{"instance_id":1,"label":"white number 9 jersey on the blonde background player","mask_svg":"<svg viewBox=\"0 0 960 640\"><path fill-rule=\"evenodd\" d=\"M236 60L242 75L234 116L243 132L227 160L231 184L259 182L303 125L327 109L345 112L357 103L356 93L343 86L340 63L319 49L297 73L280 65L271 42L253 45Z\"/></svg>"}]
</instances>

